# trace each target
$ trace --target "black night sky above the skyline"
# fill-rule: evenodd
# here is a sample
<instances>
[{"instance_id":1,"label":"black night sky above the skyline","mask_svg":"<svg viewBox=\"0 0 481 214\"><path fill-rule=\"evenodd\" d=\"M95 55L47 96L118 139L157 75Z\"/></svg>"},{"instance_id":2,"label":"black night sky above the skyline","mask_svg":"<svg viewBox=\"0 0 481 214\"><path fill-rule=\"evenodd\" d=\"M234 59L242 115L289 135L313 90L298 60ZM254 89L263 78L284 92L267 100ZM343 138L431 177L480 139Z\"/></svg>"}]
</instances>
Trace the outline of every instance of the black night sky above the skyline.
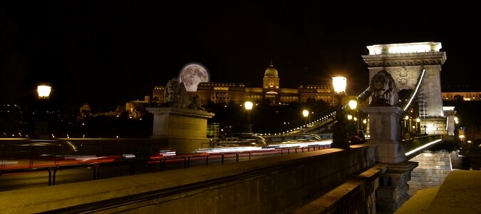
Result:
<instances>
[{"instance_id":1,"label":"black night sky above the skyline","mask_svg":"<svg viewBox=\"0 0 481 214\"><path fill-rule=\"evenodd\" d=\"M282 88L368 85L366 46L439 41L442 84L475 84L475 1L1 1L0 103L28 103L39 81L66 111L108 111L150 96L192 61L211 81ZM461 75L460 75L461 74Z\"/></svg>"}]
</instances>

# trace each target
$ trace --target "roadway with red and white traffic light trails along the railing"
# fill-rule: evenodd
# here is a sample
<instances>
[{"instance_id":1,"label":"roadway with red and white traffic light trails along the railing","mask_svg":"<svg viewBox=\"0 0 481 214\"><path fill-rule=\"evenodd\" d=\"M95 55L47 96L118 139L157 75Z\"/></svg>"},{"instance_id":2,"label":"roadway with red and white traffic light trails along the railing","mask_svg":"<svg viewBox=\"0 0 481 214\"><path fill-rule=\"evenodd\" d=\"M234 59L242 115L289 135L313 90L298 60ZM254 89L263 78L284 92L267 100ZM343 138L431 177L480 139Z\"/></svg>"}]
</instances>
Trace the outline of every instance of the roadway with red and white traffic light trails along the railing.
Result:
<instances>
[{"instance_id":1,"label":"roadway with red and white traffic light trails along the railing","mask_svg":"<svg viewBox=\"0 0 481 214\"><path fill-rule=\"evenodd\" d=\"M331 141L289 143L269 147L202 148L197 153L161 151L148 158L123 156L63 156L62 158L8 159L0 165L0 191L113 178L141 173L187 169L283 156L329 148Z\"/></svg>"}]
</instances>

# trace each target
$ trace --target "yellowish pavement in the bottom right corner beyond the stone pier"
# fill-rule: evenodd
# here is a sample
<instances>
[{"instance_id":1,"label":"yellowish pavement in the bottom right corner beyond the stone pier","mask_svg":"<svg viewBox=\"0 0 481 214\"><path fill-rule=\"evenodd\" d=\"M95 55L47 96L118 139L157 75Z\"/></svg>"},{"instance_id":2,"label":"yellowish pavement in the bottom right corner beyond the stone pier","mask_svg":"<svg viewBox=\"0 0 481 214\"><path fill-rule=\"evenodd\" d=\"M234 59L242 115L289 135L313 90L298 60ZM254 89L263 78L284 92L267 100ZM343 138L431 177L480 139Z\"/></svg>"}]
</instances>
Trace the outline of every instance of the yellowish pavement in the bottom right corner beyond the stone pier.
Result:
<instances>
[{"instance_id":1,"label":"yellowish pavement in the bottom right corner beyond the stone pier","mask_svg":"<svg viewBox=\"0 0 481 214\"><path fill-rule=\"evenodd\" d=\"M418 190L395 214L481 213L481 171L452 170L440 187Z\"/></svg>"}]
</instances>

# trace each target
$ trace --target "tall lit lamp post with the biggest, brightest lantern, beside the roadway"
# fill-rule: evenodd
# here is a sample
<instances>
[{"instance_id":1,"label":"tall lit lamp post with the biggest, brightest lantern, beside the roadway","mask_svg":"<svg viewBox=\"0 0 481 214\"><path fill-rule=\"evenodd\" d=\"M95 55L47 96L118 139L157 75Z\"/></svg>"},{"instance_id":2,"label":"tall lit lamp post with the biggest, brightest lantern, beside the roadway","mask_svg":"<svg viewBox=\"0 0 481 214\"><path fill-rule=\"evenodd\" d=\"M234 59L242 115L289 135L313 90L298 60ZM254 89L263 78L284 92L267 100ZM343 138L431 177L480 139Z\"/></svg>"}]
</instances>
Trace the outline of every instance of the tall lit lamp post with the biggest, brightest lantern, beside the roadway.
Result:
<instances>
[{"instance_id":1,"label":"tall lit lamp post with the biggest, brightest lantern, beside the roadway","mask_svg":"<svg viewBox=\"0 0 481 214\"><path fill-rule=\"evenodd\" d=\"M346 125L344 124L344 113L342 109L342 98L346 95L347 78L344 76L334 76L332 84L334 94L337 98L336 121L333 126L331 148L349 148L349 142L346 133Z\"/></svg>"}]
</instances>

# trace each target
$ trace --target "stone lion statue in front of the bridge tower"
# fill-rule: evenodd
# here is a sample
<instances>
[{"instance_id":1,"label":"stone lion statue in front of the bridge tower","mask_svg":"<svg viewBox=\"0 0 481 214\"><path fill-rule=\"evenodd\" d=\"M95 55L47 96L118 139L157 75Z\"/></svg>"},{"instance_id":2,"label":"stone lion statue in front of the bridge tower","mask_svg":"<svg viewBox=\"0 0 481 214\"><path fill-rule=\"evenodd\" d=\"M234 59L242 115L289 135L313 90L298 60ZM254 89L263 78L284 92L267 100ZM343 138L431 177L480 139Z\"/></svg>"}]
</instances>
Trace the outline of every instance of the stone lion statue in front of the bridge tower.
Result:
<instances>
[{"instance_id":1,"label":"stone lion statue in front of the bridge tower","mask_svg":"<svg viewBox=\"0 0 481 214\"><path fill-rule=\"evenodd\" d=\"M391 73L379 71L371 78L369 106L396 106L399 102L398 89Z\"/></svg>"}]
</instances>

